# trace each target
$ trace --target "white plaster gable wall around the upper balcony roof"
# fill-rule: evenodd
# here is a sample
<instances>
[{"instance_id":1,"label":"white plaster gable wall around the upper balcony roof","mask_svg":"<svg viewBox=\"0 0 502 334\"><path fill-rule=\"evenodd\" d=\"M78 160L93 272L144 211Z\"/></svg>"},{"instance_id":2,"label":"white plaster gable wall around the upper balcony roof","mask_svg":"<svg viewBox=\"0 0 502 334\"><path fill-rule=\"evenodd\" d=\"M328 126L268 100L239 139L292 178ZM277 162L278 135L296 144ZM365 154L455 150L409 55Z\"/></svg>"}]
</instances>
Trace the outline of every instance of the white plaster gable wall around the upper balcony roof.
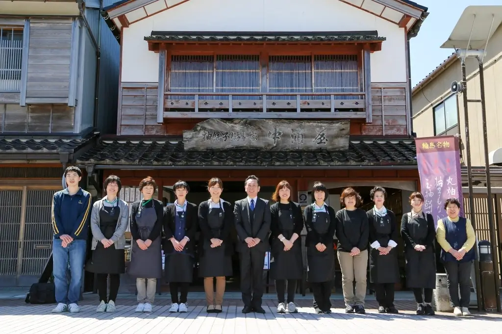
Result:
<instances>
[{"instance_id":1,"label":"white plaster gable wall around the upper balcony roof","mask_svg":"<svg viewBox=\"0 0 502 334\"><path fill-rule=\"evenodd\" d=\"M122 82L158 82L152 31L370 31L386 37L371 54L372 82L406 82L405 31L338 0L190 0L123 29Z\"/></svg>"}]
</instances>

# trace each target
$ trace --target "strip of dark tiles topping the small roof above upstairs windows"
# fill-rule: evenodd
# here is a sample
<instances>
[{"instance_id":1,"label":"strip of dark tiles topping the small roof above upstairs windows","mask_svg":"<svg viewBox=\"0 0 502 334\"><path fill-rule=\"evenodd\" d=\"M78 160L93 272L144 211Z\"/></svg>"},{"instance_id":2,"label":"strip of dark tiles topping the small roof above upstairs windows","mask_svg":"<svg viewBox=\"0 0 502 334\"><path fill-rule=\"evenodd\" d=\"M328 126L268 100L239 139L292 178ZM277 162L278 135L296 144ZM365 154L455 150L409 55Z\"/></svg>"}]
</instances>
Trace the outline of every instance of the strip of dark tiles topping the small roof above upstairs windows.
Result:
<instances>
[{"instance_id":1,"label":"strip of dark tiles topping the small roof above upstairs windows","mask_svg":"<svg viewBox=\"0 0 502 334\"><path fill-rule=\"evenodd\" d=\"M360 32L162 32L145 41L162 42L351 42L385 41L376 31Z\"/></svg>"}]
</instances>

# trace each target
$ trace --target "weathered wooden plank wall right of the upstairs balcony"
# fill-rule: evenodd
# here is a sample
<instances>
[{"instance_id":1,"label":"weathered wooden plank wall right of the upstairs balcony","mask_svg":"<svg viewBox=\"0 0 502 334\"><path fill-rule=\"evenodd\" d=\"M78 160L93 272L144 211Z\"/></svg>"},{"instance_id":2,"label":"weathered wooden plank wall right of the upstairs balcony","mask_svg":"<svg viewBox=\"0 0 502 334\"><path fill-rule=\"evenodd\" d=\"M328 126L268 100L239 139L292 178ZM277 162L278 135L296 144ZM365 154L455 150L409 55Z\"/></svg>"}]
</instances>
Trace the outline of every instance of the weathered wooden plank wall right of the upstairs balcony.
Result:
<instances>
[{"instance_id":1,"label":"weathered wooden plank wall right of the upstairs balcony","mask_svg":"<svg viewBox=\"0 0 502 334\"><path fill-rule=\"evenodd\" d=\"M373 122L361 124L361 135L407 135L407 85L371 83Z\"/></svg>"}]
</instances>

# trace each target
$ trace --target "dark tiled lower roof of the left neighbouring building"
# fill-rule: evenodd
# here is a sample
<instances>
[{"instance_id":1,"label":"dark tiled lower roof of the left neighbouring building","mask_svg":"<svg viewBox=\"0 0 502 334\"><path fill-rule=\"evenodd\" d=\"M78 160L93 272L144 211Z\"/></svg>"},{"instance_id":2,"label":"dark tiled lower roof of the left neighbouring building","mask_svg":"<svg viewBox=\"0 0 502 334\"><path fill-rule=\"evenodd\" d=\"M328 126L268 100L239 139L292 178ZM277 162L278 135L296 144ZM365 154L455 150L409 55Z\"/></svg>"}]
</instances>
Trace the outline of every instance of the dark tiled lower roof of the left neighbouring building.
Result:
<instances>
[{"instance_id":1,"label":"dark tiled lower roof of the left neighbouring building","mask_svg":"<svg viewBox=\"0 0 502 334\"><path fill-rule=\"evenodd\" d=\"M0 154L74 153L94 137L94 134L83 138L71 137L66 139L61 137L3 137L0 139Z\"/></svg>"}]
</instances>

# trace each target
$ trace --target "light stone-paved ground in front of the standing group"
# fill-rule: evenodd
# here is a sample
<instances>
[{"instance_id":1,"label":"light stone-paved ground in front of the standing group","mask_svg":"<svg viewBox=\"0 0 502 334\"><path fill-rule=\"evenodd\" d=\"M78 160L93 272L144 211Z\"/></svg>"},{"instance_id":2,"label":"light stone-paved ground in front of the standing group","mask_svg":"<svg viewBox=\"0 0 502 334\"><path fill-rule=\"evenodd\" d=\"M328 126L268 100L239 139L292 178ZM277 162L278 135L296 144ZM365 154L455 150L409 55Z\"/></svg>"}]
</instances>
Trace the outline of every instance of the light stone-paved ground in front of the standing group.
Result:
<instances>
[{"instance_id":1,"label":"light stone-paved ground in front of the standing group","mask_svg":"<svg viewBox=\"0 0 502 334\"><path fill-rule=\"evenodd\" d=\"M148 333L148 334L427 334L433 332L500 333L502 315L477 313L472 317L414 314L412 301L399 300L401 314L378 314L374 301L366 304L366 315L345 314L343 301L333 300L333 313L316 314L311 301L299 300L297 314L277 314L274 300L264 300L266 314L242 314L240 300L225 302L220 314L207 314L202 299L189 300L188 313L168 313L169 300L158 299L152 313L135 313L134 299L117 299L115 313L96 313L94 298L81 303L80 313L52 314L54 305L30 305L21 299L0 300L1 333ZM474 313L474 312L473 312Z\"/></svg>"}]
</instances>

